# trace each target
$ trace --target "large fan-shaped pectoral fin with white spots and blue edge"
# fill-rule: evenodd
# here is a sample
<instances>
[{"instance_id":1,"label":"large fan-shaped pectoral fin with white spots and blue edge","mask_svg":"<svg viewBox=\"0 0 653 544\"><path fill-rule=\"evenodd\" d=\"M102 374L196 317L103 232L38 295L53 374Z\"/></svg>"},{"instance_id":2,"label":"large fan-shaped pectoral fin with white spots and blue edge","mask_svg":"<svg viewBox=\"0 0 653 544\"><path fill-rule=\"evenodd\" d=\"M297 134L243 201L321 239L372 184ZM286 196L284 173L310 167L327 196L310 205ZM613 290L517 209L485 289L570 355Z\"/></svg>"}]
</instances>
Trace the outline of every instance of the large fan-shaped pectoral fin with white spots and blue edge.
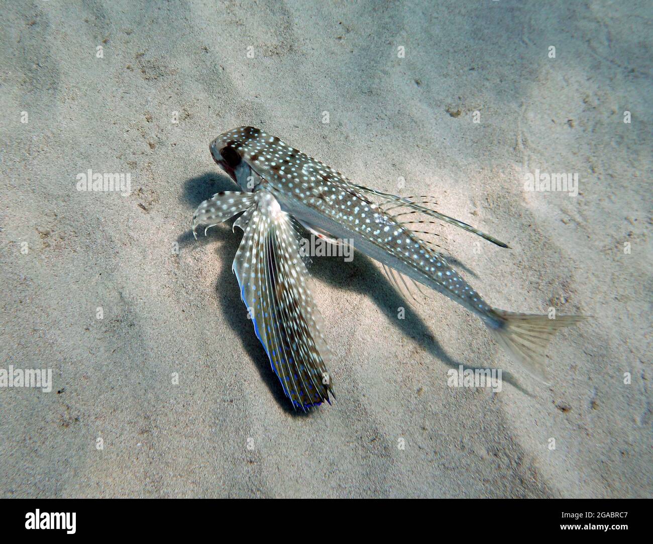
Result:
<instances>
[{"instance_id":1,"label":"large fan-shaped pectoral fin with white spots and blue edge","mask_svg":"<svg viewBox=\"0 0 653 544\"><path fill-rule=\"evenodd\" d=\"M283 391L302 409L329 401L329 351L321 316L310 293L290 217L266 191L257 191L247 212L233 270L249 317Z\"/></svg>"}]
</instances>

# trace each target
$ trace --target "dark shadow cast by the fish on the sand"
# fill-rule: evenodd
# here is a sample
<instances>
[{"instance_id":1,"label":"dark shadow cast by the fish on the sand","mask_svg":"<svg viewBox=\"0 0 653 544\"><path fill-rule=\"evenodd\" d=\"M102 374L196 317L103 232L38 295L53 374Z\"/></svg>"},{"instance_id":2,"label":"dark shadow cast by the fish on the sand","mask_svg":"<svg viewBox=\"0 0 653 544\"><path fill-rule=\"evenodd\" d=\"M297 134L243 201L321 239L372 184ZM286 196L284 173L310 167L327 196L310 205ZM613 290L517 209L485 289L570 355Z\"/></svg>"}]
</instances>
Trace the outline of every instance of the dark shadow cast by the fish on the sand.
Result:
<instances>
[{"instance_id":1,"label":"dark shadow cast by the fish on the sand","mask_svg":"<svg viewBox=\"0 0 653 544\"><path fill-rule=\"evenodd\" d=\"M191 214L189 214L189 222L192 212L195 211L200 202L212 197L219 191L237 190L238 187L230 178L214 172L207 172L202 176L187 180L184 185L183 199L192 208ZM241 338L247 355L255 362L261 378L268 385L277 402L287 413L303 417L308 415L309 412L304 413L301 410L294 409L285 394L283 394L279 379L270 366L268 356L256 337L251 320L247 319L247 312L244 310L245 306L240 300L240 287L236 276L231 270L231 260L236 255L242 233L240 229L237 229L235 234L232 232L233 221L234 219L231 219L225 221L222 225L213 227L207 232L207 236L204 236L200 229L197 241L193 236L193 232L188 229L180 234L177 240L178 244L180 249L185 249L195 244L204 246L205 244L214 244L215 241L219 242L215 251L223 257L225 264L218 274L215 291L223 309L223 315L225 315L229 327ZM454 264L452 259L449 259L449 261ZM462 263L455 264L467 270L464 265L461 266ZM384 313L387 319L396 323L405 336L415 340L432 357L441 360L447 366L457 370L458 366L462 364L466 369L481 370L480 367L464 364L449 356L436 340L428 324L411 308L406 298L396 291L394 285L375 266L372 259L366 257L366 255L357 252L355 253L355 259L351 262L344 261L342 257L313 258L313 263L309 266L309 272L313 278L324 281L327 285L342 291L352 291L353 293L370 296L377 308ZM473 275L473 273L471 274ZM346 304L346 300L343 300L343 303ZM397 308L400 306L405 308L405 319L397 319ZM504 370L502 377L507 383L530 396L530 393L522 389L509 372Z\"/></svg>"}]
</instances>

